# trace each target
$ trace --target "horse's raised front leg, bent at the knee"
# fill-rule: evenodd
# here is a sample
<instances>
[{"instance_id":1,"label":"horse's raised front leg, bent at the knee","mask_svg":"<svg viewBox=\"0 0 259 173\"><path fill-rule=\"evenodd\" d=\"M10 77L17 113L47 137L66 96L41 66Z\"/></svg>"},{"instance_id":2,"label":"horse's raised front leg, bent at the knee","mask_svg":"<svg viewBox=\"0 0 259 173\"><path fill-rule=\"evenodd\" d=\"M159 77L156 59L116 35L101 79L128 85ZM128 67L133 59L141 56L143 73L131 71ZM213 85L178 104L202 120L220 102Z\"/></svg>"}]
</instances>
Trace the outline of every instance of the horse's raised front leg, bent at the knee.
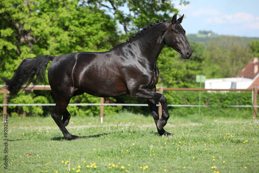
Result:
<instances>
[{"instance_id":1,"label":"horse's raised front leg, bent at the knee","mask_svg":"<svg viewBox=\"0 0 259 173\"><path fill-rule=\"evenodd\" d=\"M164 97L164 95L157 93L157 92L153 91L152 89L149 89L147 86L140 87L138 89L138 92L136 92L135 94L131 94L131 95L132 95L132 97L136 97L136 98L157 100L161 103L162 115L161 115L161 119L159 119L156 122L156 124L157 124L157 129L162 130L163 127L166 125L167 120L169 119L169 113L168 113L167 105L166 105L167 100ZM155 103L153 102L153 104L155 104ZM157 109L156 109L156 112L157 112ZM156 114L158 115L158 113L156 113ZM155 115L156 120L157 120L157 115Z\"/></svg>"}]
</instances>

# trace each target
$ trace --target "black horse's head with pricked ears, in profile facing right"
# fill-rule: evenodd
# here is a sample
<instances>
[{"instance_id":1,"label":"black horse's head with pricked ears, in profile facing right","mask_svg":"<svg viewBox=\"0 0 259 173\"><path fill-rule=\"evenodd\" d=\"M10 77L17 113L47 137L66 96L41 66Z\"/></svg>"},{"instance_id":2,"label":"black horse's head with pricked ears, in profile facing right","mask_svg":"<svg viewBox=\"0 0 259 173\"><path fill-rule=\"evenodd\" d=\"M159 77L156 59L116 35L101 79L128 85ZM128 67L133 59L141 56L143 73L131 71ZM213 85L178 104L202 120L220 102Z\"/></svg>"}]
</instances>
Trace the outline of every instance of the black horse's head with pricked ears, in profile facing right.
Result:
<instances>
[{"instance_id":1,"label":"black horse's head with pricked ears, in profile facing right","mask_svg":"<svg viewBox=\"0 0 259 173\"><path fill-rule=\"evenodd\" d=\"M185 30L180 24L183 21L183 16L176 20L177 14L175 14L172 20L169 21L170 25L166 31L164 41L166 45L181 53L182 58L189 59L192 55L192 49L186 39Z\"/></svg>"}]
</instances>

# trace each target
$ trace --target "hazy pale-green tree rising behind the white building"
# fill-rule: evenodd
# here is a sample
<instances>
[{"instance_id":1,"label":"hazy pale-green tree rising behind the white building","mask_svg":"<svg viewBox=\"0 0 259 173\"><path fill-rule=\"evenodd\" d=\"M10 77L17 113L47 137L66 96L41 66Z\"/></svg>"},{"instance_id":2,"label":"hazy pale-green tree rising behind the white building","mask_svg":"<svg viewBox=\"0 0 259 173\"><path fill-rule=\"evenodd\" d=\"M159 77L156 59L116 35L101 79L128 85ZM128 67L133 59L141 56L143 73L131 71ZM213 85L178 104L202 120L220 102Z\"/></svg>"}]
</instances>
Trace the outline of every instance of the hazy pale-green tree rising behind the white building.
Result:
<instances>
[{"instance_id":1,"label":"hazy pale-green tree rising behind the white building","mask_svg":"<svg viewBox=\"0 0 259 173\"><path fill-rule=\"evenodd\" d=\"M251 61L244 37L218 37L207 45L204 74L209 78L236 77Z\"/></svg>"}]
</instances>

